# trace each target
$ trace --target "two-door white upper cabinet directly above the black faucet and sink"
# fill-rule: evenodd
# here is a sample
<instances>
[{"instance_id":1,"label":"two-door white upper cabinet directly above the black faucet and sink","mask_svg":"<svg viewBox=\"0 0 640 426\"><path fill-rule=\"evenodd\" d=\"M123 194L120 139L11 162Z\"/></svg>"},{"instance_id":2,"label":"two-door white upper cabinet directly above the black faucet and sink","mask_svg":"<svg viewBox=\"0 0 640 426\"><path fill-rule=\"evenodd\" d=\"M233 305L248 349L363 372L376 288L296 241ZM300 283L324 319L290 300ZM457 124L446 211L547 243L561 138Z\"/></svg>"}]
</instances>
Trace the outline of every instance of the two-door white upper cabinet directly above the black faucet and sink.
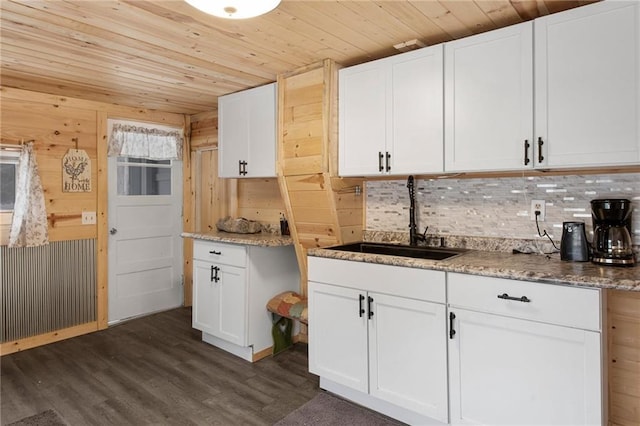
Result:
<instances>
[{"instance_id":1,"label":"two-door white upper cabinet directly above the black faucet and sink","mask_svg":"<svg viewBox=\"0 0 640 426\"><path fill-rule=\"evenodd\" d=\"M442 45L341 69L339 173L443 171Z\"/></svg>"}]
</instances>

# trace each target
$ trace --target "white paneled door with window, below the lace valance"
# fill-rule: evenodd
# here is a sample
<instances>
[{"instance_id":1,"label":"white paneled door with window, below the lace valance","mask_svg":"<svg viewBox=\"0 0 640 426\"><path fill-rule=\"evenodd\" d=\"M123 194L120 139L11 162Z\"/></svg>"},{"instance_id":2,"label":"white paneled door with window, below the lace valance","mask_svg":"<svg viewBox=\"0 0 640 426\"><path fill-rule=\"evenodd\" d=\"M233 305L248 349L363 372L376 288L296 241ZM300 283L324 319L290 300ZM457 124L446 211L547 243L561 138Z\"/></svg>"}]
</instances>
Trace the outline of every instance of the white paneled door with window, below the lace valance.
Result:
<instances>
[{"instance_id":1,"label":"white paneled door with window, below the lace valance","mask_svg":"<svg viewBox=\"0 0 640 426\"><path fill-rule=\"evenodd\" d=\"M109 323L183 302L182 162L109 157Z\"/></svg>"}]
</instances>

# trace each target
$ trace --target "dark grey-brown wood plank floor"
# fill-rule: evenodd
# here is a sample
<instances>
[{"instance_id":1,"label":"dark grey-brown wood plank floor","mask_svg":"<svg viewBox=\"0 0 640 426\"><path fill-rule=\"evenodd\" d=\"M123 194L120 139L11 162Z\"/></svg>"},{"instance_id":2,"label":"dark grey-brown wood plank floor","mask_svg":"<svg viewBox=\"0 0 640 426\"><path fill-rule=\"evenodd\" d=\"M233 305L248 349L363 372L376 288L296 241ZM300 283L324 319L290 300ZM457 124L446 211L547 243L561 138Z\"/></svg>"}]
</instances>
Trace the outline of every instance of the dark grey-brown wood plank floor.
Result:
<instances>
[{"instance_id":1,"label":"dark grey-brown wood plank floor","mask_svg":"<svg viewBox=\"0 0 640 426\"><path fill-rule=\"evenodd\" d=\"M201 342L180 308L0 359L1 424L272 425L318 392L297 344L251 364Z\"/></svg>"}]
</instances>

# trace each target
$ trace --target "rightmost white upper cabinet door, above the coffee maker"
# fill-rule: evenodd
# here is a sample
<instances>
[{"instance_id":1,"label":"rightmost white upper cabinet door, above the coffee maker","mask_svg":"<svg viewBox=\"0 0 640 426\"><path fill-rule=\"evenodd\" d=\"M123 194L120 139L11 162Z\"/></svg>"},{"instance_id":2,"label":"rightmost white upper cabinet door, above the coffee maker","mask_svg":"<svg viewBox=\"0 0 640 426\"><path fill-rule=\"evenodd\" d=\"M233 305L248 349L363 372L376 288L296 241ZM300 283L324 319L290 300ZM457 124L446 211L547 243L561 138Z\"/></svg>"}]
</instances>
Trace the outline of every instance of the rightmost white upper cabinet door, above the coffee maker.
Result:
<instances>
[{"instance_id":1,"label":"rightmost white upper cabinet door, above the coffee maker","mask_svg":"<svg viewBox=\"0 0 640 426\"><path fill-rule=\"evenodd\" d=\"M640 3L535 21L537 166L640 162ZM537 143L537 141L536 141Z\"/></svg>"}]
</instances>

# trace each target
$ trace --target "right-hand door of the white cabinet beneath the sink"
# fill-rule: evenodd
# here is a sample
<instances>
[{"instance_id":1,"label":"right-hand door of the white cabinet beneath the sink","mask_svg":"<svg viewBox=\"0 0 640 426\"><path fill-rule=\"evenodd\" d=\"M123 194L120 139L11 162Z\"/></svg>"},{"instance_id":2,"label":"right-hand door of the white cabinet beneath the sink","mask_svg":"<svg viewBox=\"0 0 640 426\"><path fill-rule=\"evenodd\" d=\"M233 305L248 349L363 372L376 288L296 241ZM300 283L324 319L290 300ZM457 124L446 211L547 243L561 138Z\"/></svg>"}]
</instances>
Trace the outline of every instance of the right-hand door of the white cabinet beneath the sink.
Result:
<instances>
[{"instance_id":1,"label":"right-hand door of the white cabinet beneath the sink","mask_svg":"<svg viewBox=\"0 0 640 426\"><path fill-rule=\"evenodd\" d=\"M371 395L448 422L445 306L369 293Z\"/></svg>"}]
</instances>

